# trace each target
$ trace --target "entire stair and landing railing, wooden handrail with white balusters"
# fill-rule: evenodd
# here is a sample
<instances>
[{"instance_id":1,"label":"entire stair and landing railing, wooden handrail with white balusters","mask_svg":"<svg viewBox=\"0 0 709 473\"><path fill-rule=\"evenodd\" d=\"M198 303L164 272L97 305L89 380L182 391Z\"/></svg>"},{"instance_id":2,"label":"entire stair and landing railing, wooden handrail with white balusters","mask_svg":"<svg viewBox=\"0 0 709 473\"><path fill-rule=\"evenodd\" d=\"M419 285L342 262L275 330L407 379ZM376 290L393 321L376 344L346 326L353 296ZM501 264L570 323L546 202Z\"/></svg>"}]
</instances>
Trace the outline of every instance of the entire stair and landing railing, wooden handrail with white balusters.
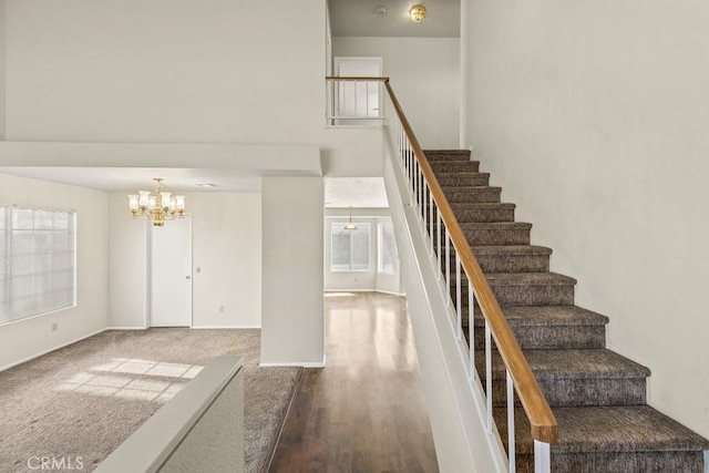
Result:
<instances>
[{"instance_id":1,"label":"entire stair and landing railing, wooden handrail with white balusters","mask_svg":"<svg viewBox=\"0 0 709 473\"><path fill-rule=\"evenodd\" d=\"M327 78L329 90L337 90L350 82L383 84L386 89L387 113L377 119L383 120L398 153L398 161L409 183L411 205L415 206L419 227L429 248L429 256L438 267L439 282L443 297L449 300L449 321L458 340L466 339L466 352L461 353L467 367L470 380L482 389L481 380L485 380L487 422L490 433L496 433L493 419L493 340L502 358L506 371L506 408L507 408L507 457L510 472L515 472L515 430L514 430L514 393L524 408L531 424L534 439L535 471L551 471L551 444L557 440L557 423L524 357L507 320L492 292L485 275L465 238L451 206L443 195L433 171L421 150L409 121L394 95L389 78ZM339 93L339 92L338 92ZM331 97L340 95L333 93ZM381 99L380 99L381 103ZM330 110L330 109L328 109ZM337 110L337 109L332 109ZM329 116L337 121L337 116ZM369 115L358 120L369 120ZM466 291L463 290L466 284ZM453 290L451 290L453 288ZM475 302L477 302L475 305ZM485 327L484 335L484 376L477 371L474 349L474 313L480 310ZM467 318L467 333L464 330L464 318Z\"/></svg>"}]
</instances>

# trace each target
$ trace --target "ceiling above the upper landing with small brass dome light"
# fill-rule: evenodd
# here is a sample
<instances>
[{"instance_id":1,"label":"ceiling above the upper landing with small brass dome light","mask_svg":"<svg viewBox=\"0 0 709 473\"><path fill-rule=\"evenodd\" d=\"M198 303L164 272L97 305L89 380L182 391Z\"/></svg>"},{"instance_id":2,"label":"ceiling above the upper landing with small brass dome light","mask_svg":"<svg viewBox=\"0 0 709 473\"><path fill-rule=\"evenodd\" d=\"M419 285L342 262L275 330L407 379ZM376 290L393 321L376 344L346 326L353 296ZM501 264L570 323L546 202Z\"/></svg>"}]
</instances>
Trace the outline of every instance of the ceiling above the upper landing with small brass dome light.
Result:
<instances>
[{"instance_id":1,"label":"ceiling above the upper landing with small brass dome light","mask_svg":"<svg viewBox=\"0 0 709 473\"><path fill-rule=\"evenodd\" d=\"M427 16L420 23L409 17L414 4ZM384 7L387 14L377 16ZM330 30L333 37L459 38L460 0L329 0Z\"/></svg>"}]
</instances>

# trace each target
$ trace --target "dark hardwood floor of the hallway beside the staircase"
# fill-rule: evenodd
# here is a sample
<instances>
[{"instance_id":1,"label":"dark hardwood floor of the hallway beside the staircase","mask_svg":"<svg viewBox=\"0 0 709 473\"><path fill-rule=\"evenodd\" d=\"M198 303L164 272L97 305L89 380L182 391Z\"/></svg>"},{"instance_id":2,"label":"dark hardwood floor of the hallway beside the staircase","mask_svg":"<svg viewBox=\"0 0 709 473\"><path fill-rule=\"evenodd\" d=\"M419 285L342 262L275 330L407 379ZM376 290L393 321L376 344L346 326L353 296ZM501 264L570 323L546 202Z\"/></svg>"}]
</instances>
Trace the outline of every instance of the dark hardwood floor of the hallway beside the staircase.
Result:
<instances>
[{"instance_id":1,"label":"dark hardwood floor of the hallway beside the staircase","mask_svg":"<svg viewBox=\"0 0 709 473\"><path fill-rule=\"evenodd\" d=\"M271 472L438 472L405 299L326 295L327 368L306 370Z\"/></svg>"}]
</instances>

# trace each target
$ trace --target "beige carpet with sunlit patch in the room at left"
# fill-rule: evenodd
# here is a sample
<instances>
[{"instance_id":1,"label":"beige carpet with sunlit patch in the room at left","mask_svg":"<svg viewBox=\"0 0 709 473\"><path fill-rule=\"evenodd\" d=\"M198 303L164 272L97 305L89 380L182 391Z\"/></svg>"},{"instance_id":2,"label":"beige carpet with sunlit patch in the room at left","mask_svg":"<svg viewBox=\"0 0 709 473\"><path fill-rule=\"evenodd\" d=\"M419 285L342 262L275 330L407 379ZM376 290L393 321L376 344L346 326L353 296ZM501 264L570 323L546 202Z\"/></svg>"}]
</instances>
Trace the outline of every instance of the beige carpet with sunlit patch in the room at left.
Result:
<instances>
[{"instance_id":1,"label":"beige carpet with sunlit patch in the room at left","mask_svg":"<svg viewBox=\"0 0 709 473\"><path fill-rule=\"evenodd\" d=\"M260 330L110 330L0 372L0 472L92 471L219 354L244 357L246 467L261 471L301 369L259 352Z\"/></svg>"}]
</instances>

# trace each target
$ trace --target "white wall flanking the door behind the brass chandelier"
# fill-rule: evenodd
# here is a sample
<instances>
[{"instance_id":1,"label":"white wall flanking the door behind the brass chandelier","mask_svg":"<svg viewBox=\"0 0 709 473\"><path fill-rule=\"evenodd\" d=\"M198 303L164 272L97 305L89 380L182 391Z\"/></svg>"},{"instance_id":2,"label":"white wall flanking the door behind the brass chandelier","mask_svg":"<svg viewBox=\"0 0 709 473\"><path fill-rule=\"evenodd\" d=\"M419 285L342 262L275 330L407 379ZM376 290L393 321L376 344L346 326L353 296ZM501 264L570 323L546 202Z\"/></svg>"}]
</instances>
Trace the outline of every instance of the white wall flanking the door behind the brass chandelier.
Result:
<instances>
[{"instance_id":1,"label":"white wall flanking the door behind the brass chandelier","mask_svg":"<svg viewBox=\"0 0 709 473\"><path fill-rule=\"evenodd\" d=\"M260 327L260 194L188 193L185 199L192 214L193 326ZM131 217L126 203L125 193L111 193L109 326L144 328L146 224Z\"/></svg>"}]
</instances>

